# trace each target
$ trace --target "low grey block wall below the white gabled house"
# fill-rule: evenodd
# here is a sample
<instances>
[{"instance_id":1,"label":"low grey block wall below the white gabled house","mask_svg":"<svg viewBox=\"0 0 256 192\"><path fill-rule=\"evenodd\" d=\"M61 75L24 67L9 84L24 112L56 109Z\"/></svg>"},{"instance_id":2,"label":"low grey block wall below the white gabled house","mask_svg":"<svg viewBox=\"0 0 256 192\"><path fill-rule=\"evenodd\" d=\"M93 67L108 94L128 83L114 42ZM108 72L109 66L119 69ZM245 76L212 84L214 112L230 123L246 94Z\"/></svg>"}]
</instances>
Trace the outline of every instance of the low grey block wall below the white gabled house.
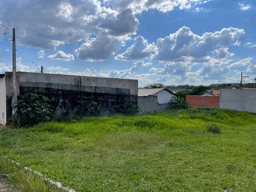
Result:
<instances>
[{"instance_id":1,"label":"low grey block wall below the white gabled house","mask_svg":"<svg viewBox=\"0 0 256 192\"><path fill-rule=\"evenodd\" d=\"M157 96L138 96L138 107L142 112L164 111L170 108L170 104L158 104Z\"/></svg>"}]
</instances>

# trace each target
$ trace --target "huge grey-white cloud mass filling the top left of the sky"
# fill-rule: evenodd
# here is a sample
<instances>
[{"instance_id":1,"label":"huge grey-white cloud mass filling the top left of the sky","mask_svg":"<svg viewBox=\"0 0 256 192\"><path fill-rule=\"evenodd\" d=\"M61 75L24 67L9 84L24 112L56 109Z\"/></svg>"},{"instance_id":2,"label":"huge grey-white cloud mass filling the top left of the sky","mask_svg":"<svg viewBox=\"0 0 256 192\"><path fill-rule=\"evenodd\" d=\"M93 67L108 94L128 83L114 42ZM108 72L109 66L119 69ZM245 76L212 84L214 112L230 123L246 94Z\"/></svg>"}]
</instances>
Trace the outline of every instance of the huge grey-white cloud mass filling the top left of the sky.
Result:
<instances>
[{"instance_id":1,"label":"huge grey-white cloud mass filling the top left of the sky","mask_svg":"<svg viewBox=\"0 0 256 192\"><path fill-rule=\"evenodd\" d=\"M118 12L98 0L10 0L1 1L0 7L0 20L18 31L16 44L37 48L56 50L61 44L88 40L91 34L125 39L138 25L132 10Z\"/></svg>"}]
</instances>

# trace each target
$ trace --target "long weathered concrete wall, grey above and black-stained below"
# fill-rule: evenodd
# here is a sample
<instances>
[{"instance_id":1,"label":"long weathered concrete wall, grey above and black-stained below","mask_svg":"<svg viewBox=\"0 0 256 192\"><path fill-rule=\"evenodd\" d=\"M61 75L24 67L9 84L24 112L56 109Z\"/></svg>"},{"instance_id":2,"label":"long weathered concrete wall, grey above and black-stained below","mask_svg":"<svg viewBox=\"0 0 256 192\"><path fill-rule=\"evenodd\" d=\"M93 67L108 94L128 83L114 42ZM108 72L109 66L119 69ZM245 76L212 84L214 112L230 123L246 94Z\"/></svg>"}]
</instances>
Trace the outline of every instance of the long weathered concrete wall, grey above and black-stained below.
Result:
<instances>
[{"instance_id":1,"label":"long weathered concrete wall, grey above and black-stained below","mask_svg":"<svg viewBox=\"0 0 256 192\"><path fill-rule=\"evenodd\" d=\"M19 94L44 94L54 106L56 118L79 114L78 101L92 100L102 114L116 112L124 101L138 102L138 80L18 72Z\"/></svg>"}]
</instances>

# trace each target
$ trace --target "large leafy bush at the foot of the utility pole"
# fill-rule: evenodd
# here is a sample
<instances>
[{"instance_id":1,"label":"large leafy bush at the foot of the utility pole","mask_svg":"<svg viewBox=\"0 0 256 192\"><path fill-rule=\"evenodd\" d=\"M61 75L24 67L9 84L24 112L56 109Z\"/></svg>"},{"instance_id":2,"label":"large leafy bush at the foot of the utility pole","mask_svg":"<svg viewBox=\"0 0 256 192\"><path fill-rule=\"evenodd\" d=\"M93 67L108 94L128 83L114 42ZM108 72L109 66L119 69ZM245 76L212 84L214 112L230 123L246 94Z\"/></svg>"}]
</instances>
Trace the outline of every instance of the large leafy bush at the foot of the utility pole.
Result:
<instances>
[{"instance_id":1,"label":"large leafy bush at the foot of the utility pole","mask_svg":"<svg viewBox=\"0 0 256 192\"><path fill-rule=\"evenodd\" d=\"M50 102L50 99L44 95L35 93L21 95L16 104L17 112L8 118L8 122L13 122L14 126L19 128L49 121L54 117Z\"/></svg>"}]
</instances>

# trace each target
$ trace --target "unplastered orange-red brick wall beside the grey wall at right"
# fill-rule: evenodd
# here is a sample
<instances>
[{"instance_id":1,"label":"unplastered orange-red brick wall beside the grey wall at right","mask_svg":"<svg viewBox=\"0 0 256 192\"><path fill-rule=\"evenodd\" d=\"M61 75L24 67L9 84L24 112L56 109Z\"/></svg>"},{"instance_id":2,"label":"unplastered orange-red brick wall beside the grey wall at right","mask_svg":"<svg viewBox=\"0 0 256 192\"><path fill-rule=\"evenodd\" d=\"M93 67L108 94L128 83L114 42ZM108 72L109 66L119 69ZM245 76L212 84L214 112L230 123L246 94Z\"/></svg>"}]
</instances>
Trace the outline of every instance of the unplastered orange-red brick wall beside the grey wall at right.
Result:
<instances>
[{"instance_id":1,"label":"unplastered orange-red brick wall beside the grey wall at right","mask_svg":"<svg viewBox=\"0 0 256 192\"><path fill-rule=\"evenodd\" d=\"M192 108L220 108L220 96L186 96L186 102Z\"/></svg>"}]
</instances>

